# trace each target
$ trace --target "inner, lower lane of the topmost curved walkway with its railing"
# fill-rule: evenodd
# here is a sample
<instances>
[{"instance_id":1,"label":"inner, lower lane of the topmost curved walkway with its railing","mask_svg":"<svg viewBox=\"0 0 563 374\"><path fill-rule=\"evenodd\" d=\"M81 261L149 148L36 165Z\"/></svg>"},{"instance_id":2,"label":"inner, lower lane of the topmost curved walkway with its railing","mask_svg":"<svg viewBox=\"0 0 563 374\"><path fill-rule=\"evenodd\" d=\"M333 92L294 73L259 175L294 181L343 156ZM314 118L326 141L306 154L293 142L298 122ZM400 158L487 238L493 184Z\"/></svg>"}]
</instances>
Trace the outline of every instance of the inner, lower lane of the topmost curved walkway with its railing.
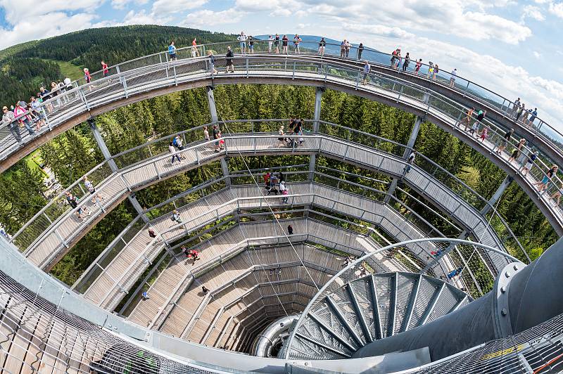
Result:
<instances>
[{"instance_id":1,"label":"inner, lower lane of the topmost curved walkway with its railing","mask_svg":"<svg viewBox=\"0 0 563 374\"><path fill-rule=\"evenodd\" d=\"M246 61L246 58L241 57L240 59L241 61ZM483 123L488 124L492 130L488 141L479 142L472 138L469 133L458 129L457 124L464 117L466 111L466 108L462 105L450 102L450 99L447 97L429 92L427 89L412 86L410 82L397 82L396 78L393 77L387 78L381 77L381 75L373 75L374 84L362 86L359 84L360 72L358 70L350 70L350 67L346 67L346 65L343 67L340 65L326 65L313 56L290 56L287 58L253 56L248 57L248 61L251 63L248 70L229 75L211 76L205 70L205 60L196 59L177 61L172 65L158 65L154 68L151 67L150 70L148 68L143 68L139 71L130 70L122 73L124 77L121 80L110 77L111 79L107 78L98 81L97 86L94 85L94 88L91 90L89 86L80 86L75 90L84 91L80 91L82 92L81 95L78 95L76 92L73 93L73 91L65 93L68 96L72 96L73 100L68 105L61 106L59 109L51 112L50 126L53 127L53 131L49 131L49 138L52 138L57 131L60 133L68 129L68 127L83 122L87 117L106 112L132 101L140 101L147 97L194 86L241 82L321 86L364 96L407 110L434 122L445 129L445 131L454 134L476 150L479 150L482 155L488 157L495 165L517 181L526 194L539 207L540 211L547 217L555 231L559 235L563 235L563 214L559 209L546 202L545 197L538 195L536 188L533 187L528 177L522 176L519 172L520 165L512 165L506 162L507 157L509 157L508 154L499 156L493 152L495 146L500 143L504 131L502 129L495 130L495 125L485 120ZM217 62L217 64L219 63ZM284 70L288 69L288 66L291 69ZM295 66L296 70L293 70L293 66ZM274 67L275 70L271 70ZM173 77L170 75L169 70L175 72ZM120 82L127 82L127 79L129 79L129 84L118 89ZM10 136L5 138L4 141L9 143L9 139ZM6 169L16 159L23 157L23 153L31 152L39 143L45 141L45 139L42 139L43 136L37 136L32 140L33 144L18 148L20 154L6 154L5 156L8 159L1 162L0 169ZM519 138L515 136L512 139L513 143L517 143L518 140ZM15 141L12 140L12 142ZM14 143L13 146L17 146L17 144ZM507 152L511 150L512 147L509 147ZM545 172L547 172L548 166L550 165L544 165L538 158L532 170L534 174L533 179L541 179ZM555 192L554 188L557 189L556 184L550 185L550 193Z\"/></svg>"}]
</instances>

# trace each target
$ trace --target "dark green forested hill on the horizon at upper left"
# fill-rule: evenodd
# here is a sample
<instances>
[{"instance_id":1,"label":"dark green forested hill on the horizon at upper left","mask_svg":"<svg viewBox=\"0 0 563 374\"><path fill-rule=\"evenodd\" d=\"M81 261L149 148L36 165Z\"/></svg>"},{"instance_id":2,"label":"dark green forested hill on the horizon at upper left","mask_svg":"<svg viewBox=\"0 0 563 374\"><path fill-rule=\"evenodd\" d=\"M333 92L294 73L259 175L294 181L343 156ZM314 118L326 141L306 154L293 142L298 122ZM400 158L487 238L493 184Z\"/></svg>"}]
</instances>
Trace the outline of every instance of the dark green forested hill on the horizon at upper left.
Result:
<instances>
[{"instance_id":1,"label":"dark green forested hill on the horizon at upper left","mask_svg":"<svg viewBox=\"0 0 563 374\"><path fill-rule=\"evenodd\" d=\"M83 67L101 69L100 61L115 65L132 58L165 51L171 40L177 47L234 39L233 35L184 27L135 25L82 30L0 51L0 105L28 101L41 86L69 76Z\"/></svg>"}]
</instances>

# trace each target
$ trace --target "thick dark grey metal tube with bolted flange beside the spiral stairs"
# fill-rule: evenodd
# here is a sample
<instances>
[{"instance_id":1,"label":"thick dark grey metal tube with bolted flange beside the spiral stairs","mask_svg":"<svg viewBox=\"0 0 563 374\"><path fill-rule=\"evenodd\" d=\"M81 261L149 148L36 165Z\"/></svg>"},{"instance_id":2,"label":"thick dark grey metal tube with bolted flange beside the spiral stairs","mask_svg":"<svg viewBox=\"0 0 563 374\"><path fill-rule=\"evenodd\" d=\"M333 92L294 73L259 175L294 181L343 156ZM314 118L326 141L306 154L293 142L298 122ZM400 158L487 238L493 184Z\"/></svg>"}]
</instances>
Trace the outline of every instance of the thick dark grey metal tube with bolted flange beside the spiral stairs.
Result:
<instances>
[{"instance_id":1,"label":"thick dark grey metal tube with bolted flange beside the spiral stairs","mask_svg":"<svg viewBox=\"0 0 563 374\"><path fill-rule=\"evenodd\" d=\"M563 239L528 266L510 264L491 292L466 307L405 333L376 340L354 358L429 347L432 361L521 333L563 313Z\"/></svg>"}]
</instances>

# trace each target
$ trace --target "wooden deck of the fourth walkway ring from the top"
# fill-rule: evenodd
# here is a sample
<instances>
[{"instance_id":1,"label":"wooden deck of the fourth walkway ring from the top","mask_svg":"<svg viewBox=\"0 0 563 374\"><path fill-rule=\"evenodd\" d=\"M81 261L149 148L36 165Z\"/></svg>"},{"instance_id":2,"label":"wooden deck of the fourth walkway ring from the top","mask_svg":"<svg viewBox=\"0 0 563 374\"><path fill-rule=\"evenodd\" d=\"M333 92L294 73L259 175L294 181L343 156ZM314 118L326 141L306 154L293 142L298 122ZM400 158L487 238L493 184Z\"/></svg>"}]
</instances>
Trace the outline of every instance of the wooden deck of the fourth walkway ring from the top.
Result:
<instances>
[{"instance_id":1,"label":"wooden deck of the fourth walkway ring from the top","mask_svg":"<svg viewBox=\"0 0 563 374\"><path fill-rule=\"evenodd\" d=\"M300 243L308 241L315 244L326 245L334 248L340 253L350 253L360 256L367 252L367 249L360 243L357 238L362 235L353 231L346 231L343 228L325 224L312 219L291 219L281 221L283 229L277 226L275 221L258 221L254 223L241 223L217 236L206 240L196 248L200 252L201 263L196 266L191 261L187 262L183 254L173 257L167 268L160 273L157 280L148 290L151 299L144 300L137 304L129 319L141 325L159 325L162 314L168 313L170 303L183 294L183 290L189 288L189 285L198 278L199 274L205 269L212 266L219 266L220 276L224 279L232 280L236 278L234 273L226 271L223 266L231 266L231 257L243 259L240 253L244 252L248 245L264 246L273 245L274 247L282 247L287 245L285 236L286 226L291 223L293 226L293 236L290 236L291 243ZM277 252L274 250L274 252ZM263 252L267 253L267 252ZM307 254L300 254L300 257L308 258ZM298 257L293 253L292 262L298 262ZM228 261L227 261L228 260ZM246 261L250 261L246 257ZM236 274L246 271L251 266L270 265L279 261L279 258L255 257L250 265L245 265L241 269L234 270ZM341 264L343 259L341 259ZM254 265L253 265L254 264ZM390 265L391 266L391 265ZM394 267L398 266L393 262ZM223 279L223 278L221 278ZM206 287L208 287L206 285ZM210 287L208 287L210 288ZM199 286L201 290L201 286ZM210 288L211 289L211 288Z\"/></svg>"}]
</instances>

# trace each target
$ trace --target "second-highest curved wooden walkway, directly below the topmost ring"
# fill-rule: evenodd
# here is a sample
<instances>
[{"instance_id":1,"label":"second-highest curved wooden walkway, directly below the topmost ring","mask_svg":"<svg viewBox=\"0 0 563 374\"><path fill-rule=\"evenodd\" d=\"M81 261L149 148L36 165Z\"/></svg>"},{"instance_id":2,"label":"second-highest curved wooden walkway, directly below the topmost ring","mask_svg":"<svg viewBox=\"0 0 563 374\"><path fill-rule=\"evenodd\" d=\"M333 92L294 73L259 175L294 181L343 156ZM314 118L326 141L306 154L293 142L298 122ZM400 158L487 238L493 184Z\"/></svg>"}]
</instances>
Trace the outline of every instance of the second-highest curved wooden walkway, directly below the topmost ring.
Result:
<instances>
[{"instance_id":1,"label":"second-highest curved wooden walkway, directly below the topmost ring","mask_svg":"<svg viewBox=\"0 0 563 374\"><path fill-rule=\"evenodd\" d=\"M393 177L403 178L405 160L379 150L369 149L365 146L347 143L338 138L324 135L305 136L303 146L291 150L277 148L276 138L277 136L264 135L225 137L225 150L220 153L214 153L212 149L208 148L208 144L203 143L184 149L182 153L184 153L186 160L182 163L170 165L169 155L163 155L122 169L119 174L114 174L100 186L96 186L97 191L106 198L101 203L101 206L105 209L104 212L101 210L102 207L93 206L90 201L83 201L80 206L87 205L91 210L91 216L86 221L80 221L72 212L65 214L55 224L50 225L48 231L25 250L25 255L37 266L50 269L68 251L71 243L89 230L89 225L92 222L101 219L103 214L111 209L116 202L124 199L129 191L144 188L163 178L185 172L226 155L239 155L239 151L242 155L276 155L289 152L319 153ZM403 180L433 202L434 205L440 207L443 212L459 221L481 243L498 248L504 247L493 228L488 226L487 219L479 211L424 170L413 166L411 172L406 174ZM491 261L491 266L496 271L504 267L505 260L501 257L498 259L491 258Z\"/></svg>"}]
</instances>

